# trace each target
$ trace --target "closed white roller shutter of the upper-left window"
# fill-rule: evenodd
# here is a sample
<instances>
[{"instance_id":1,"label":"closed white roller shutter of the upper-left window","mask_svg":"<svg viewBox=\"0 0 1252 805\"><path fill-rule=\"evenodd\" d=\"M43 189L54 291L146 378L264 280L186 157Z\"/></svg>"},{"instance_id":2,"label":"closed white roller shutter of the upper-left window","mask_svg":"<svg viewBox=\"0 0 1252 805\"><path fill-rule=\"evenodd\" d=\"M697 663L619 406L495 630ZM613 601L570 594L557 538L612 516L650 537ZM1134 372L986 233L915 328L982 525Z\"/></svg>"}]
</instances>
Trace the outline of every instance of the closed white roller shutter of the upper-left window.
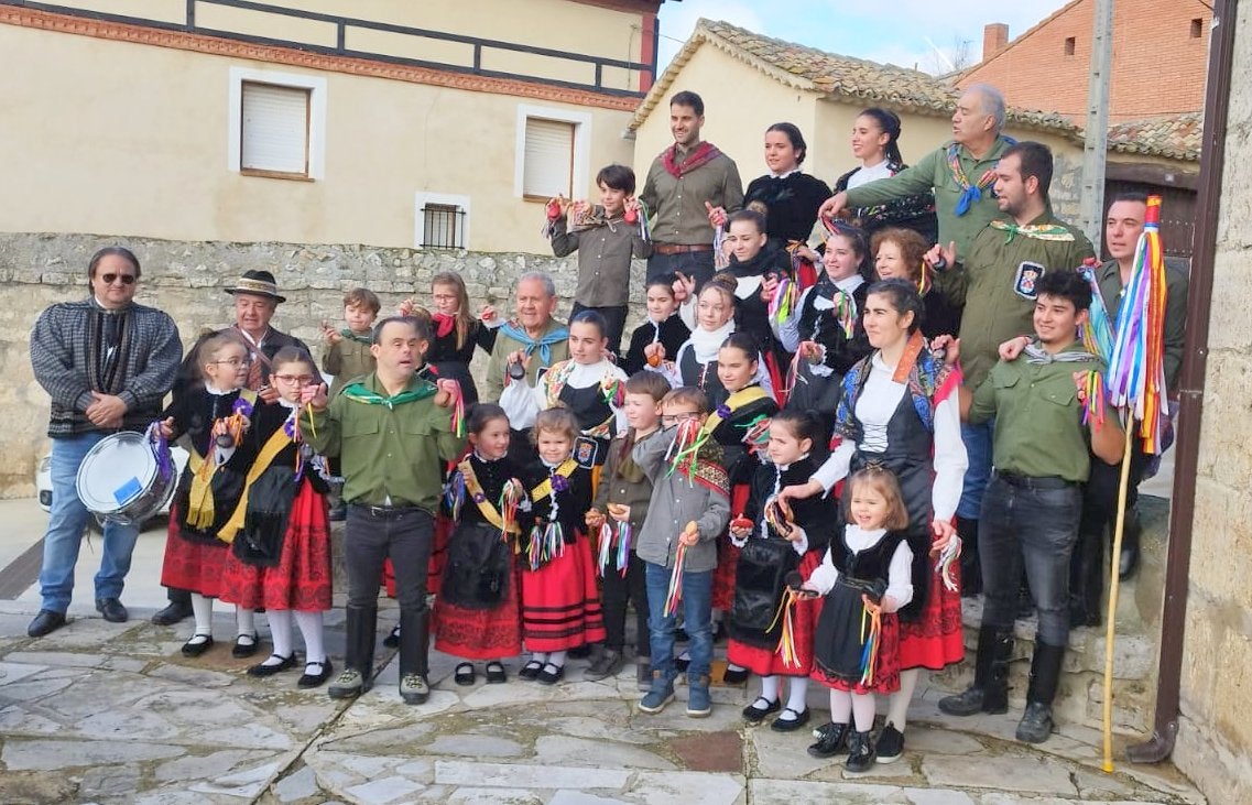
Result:
<instances>
[{"instance_id":1,"label":"closed white roller shutter of the upper-left window","mask_svg":"<svg viewBox=\"0 0 1252 805\"><path fill-rule=\"evenodd\" d=\"M309 91L245 81L240 141L243 170L308 175Z\"/></svg>"}]
</instances>

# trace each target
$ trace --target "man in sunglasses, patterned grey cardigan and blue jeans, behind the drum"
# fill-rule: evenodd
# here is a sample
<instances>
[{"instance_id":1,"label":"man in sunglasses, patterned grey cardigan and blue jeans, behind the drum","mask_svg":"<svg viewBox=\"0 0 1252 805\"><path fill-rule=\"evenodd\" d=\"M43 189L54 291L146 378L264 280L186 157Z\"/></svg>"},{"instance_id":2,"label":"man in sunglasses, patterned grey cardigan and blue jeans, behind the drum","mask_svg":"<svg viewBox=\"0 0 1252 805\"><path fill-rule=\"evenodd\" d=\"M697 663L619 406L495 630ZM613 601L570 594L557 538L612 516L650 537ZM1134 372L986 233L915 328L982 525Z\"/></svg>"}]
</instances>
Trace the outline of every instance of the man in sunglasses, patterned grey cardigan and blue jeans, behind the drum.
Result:
<instances>
[{"instance_id":1,"label":"man in sunglasses, patterned grey cardigan and blue jeans, behind the drum","mask_svg":"<svg viewBox=\"0 0 1252 805\"><path fill-rule=\"evenodd\" d=\"M75 487L79 464L105 436L143 431L158 418L183 357L174 320L134 303L139 259L129 249L96 252L88 278L88 299L54 304L30 333L35 379L53 398L53 503L39 571L43 603L26 628L31 637L65 625L74 566L91 517ZM120 597L138 537L135 526L104 525L95 608L114 623L129 617Z\"/></svg>"}]
</instances>

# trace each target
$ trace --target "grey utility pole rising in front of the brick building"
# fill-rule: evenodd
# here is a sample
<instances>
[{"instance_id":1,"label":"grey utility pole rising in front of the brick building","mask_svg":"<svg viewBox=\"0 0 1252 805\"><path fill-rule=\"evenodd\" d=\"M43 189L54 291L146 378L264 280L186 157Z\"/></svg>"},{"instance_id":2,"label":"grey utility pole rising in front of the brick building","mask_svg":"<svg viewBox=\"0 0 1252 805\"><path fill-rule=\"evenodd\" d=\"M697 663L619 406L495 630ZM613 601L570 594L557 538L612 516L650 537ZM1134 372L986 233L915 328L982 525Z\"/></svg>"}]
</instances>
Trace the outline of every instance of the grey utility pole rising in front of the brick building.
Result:
<instances>
[{"instance_id":1,"label":"grey utility pole rising in front of the brick building","mask_svg":"<svg viewBox=\"0 0 1252 805\"><path fill-rule=\"evenodd\" d=\"M1104 160L1108 154L1108 89L1113 63L1113 0L1096 0L1087 139L1083 143L1082 229L1101 253L1104 233Z\"/></svg>"}]
</instances>

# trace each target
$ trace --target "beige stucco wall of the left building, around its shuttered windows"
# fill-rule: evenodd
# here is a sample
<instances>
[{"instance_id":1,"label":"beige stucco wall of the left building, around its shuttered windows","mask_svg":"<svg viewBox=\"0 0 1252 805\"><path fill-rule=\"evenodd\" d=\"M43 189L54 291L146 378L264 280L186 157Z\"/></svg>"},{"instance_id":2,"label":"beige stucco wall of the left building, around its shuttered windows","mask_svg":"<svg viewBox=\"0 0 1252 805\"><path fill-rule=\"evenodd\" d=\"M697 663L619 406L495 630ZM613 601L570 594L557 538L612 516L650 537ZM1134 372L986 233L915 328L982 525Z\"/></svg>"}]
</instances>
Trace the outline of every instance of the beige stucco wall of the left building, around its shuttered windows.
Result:
<instances>
[{"instance_id":1,"label":"beige stucco wall of the left building, around its shuttered windows","mask_svg":"<svg viewBox=\"0 0 1252 805\"><path fill-rule=\"evenodd\" d=\"M470 248L548 252L513 194L517 110L591 115L586 172L630 163L625 111L304 70L0 25L0 230L414 244L414 193L471 200ZM318 182L228 169L233 66L326 79ZM587 189L590 192L590 188Z\"/></svg>"}]
</instances>

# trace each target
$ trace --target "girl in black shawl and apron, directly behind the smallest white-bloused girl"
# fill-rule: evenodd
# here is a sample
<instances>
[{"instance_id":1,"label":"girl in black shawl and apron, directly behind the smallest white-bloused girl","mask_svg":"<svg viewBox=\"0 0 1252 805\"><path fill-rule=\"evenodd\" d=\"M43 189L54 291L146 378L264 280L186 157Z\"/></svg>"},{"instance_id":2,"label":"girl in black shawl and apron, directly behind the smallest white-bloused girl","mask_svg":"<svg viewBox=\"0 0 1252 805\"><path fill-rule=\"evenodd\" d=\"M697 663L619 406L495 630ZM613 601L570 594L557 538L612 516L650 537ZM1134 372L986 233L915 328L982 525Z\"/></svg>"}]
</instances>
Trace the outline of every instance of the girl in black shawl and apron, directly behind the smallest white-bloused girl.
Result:
<instances>
[{"instance_id":1,"label":"girl in black shawl and apron, directly behind the smallest white-bloused girl","mask_svg":"<svg viewBox=\"0 0 1252 805\"><path fill-rule=\"evenodd\" d=\"M730 538L740 548L735 573L735 598L730 610L730 645L726 659L761 677L761 695L744 709L749 724L782 712L771 729L799 730L809 722L805 704L813 674L813 632L821 602L801 598L791 610L793 645L780 645L782 620L776 617L791 572L809 577L821 565L839 522L833 497L796 501L777 507L777 493L793 483L804 483L816 469L809 457L821 433L815 414L784 411L770 419L770 463L756 468L742 517L730 523ZM781 677L791 681L786 707L781 700Z\"/></svg>"}]
</instances>

